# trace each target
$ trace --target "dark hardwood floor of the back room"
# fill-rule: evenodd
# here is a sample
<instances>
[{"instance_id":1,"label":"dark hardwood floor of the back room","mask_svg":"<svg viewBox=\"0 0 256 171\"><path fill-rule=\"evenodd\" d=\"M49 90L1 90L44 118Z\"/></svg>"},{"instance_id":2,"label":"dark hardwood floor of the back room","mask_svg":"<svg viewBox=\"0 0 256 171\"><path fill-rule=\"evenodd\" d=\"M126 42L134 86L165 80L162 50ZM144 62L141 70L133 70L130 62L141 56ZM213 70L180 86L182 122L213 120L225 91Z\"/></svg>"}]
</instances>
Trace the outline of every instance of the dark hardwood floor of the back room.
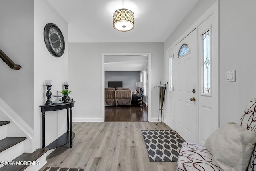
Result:
<instances>
[{"instance_id":1,"label":"dark hardwood floor of the back room","mask_svg":"<svg viewBox=\"0 0 256 171\"><path fill-rule=\"evenodd\" d=\"M120 122L147 122L148 121L148 106L117 106L105 107L105 121L120 121Z\"/></svg>"}]
</instances>

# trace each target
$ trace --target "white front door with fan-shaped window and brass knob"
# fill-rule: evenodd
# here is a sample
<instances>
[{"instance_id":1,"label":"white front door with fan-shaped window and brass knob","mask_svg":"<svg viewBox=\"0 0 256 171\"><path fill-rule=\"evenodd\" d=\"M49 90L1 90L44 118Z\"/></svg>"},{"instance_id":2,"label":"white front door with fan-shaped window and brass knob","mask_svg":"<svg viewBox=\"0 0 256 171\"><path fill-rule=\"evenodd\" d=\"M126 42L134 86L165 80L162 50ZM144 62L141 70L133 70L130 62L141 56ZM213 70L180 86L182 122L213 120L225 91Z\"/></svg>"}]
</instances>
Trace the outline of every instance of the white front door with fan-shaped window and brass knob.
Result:
<instances>
[{"instance_id":1,"label":"white front door with fan-shaped window and brass knob","mask_svg":"<svg viewBox=\"0 0 256 171\"><path fill-rule=\"evenodd\" d=\"M198 142L197 30L174 46L174 125L186 141ZM186 48L188 46L188 48ZM182 48L183 47L183 48ZM187 54L179 57L179 51Z\"/></svg>"}]
</instances>

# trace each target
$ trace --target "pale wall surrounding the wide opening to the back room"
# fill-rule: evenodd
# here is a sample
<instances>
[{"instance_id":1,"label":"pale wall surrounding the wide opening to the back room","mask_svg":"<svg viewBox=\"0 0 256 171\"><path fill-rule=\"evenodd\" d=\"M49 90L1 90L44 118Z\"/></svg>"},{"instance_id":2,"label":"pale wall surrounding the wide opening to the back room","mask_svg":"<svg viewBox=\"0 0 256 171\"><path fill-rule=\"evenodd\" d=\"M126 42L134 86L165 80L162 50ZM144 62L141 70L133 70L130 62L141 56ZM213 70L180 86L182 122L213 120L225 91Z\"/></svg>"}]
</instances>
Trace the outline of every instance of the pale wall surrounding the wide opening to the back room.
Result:
<instances>
[{"instance_id":1,"label":"pale wall surrounding the wide opening to the back room","mask_svg":"<svg viewBox=\"0 0 256 171\"><path fill-rule=\"evenodd\" d=\"M68 54L70 97L76 101L74 121L102 121L102 53L151 53L151 116L158 117L158 91L164 75L164 43L70 43Z\"/></svg>"}]
</instances>

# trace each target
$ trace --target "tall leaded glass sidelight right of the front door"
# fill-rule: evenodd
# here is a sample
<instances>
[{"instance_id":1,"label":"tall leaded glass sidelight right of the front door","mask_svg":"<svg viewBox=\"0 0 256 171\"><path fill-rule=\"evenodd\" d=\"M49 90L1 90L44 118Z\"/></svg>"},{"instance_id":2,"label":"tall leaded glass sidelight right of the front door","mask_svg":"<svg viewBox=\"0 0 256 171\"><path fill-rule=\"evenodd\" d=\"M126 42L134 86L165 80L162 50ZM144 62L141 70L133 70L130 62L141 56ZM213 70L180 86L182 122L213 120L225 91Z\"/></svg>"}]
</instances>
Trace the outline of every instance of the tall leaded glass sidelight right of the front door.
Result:
<instances>
[{"instance_id":1,"label":"tall leaded glass sidelight right of the front door","mask_svg":"<svg viewBox=\"0 0 256 171\"><path fill-rule=\"evenodd\" d=\"M210 30L202 35L202 65L203 93L210 93Z\"/></svg>"}]
</instances>

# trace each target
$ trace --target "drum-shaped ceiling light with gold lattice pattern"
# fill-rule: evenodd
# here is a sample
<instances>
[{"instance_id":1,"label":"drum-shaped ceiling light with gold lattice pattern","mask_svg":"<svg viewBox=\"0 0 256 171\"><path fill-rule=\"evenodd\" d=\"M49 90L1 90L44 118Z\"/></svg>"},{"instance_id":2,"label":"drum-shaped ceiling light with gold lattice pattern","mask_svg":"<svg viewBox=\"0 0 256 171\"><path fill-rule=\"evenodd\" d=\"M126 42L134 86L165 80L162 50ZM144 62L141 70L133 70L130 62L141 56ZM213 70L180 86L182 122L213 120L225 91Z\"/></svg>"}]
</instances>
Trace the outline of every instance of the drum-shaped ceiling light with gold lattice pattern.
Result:
<instances>
[{"instance_id":1,"label":"drum-shaped ceiling light with gold lattice pattern","mask_svg":"<svg viewBox=\"0 0 256 171\"><path fill-rule=\"evenodd\" d=\"M134 13L127 9L116 10L113 14L113 27L122 32L134 28Z\"/></svg>"}]
</instances>

